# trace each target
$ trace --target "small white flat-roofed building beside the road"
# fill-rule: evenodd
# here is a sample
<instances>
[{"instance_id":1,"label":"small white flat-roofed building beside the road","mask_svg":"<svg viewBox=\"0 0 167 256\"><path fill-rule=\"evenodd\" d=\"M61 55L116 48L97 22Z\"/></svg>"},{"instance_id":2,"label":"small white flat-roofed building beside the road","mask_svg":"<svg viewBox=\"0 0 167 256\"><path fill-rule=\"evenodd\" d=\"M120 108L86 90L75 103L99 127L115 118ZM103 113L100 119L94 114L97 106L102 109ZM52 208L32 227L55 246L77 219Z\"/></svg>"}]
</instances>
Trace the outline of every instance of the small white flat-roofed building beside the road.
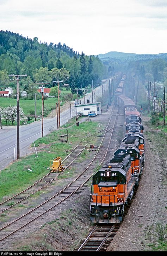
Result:
<instances>
[{"instance_id":1,"label":"small white flat-roofed building beside the road","mask_svg":"<svg viewBox=\"0 0 167 256\"><path fill-rule=\"evenodd\" d=\"M88 116L89 111L94 111L96 115L101 114L101 102L87 103L75 105L77 113L83 113L84 116Z\"/></svg>"}]
</instances>

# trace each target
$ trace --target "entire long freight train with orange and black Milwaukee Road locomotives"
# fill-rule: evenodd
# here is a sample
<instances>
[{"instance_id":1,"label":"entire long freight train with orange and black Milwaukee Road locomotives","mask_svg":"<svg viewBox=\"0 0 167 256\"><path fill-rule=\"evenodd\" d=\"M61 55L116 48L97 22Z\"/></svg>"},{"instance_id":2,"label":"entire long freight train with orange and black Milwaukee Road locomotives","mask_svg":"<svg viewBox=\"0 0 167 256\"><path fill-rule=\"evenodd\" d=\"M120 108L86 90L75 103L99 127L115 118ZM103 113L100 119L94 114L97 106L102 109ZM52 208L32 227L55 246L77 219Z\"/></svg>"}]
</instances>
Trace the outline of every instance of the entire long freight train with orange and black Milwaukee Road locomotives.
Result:
<instances>
[{"instance_id":1,"label":"entire long freight train with orange and black Milwaukee Road locomotives","mask_svg":"<svg viewBox=\"0 0 167 256\"><path fill-rule=\"evenodd\" d=\"M122 221L124 208L138 187L144 166L144 127L134 101L123 95L124 79L125 76L118 86L120 90L115 91L115 101L124 109L126 134L110 162L92 177L90 211L93 223Z\"/></svg>"}]
</instances>

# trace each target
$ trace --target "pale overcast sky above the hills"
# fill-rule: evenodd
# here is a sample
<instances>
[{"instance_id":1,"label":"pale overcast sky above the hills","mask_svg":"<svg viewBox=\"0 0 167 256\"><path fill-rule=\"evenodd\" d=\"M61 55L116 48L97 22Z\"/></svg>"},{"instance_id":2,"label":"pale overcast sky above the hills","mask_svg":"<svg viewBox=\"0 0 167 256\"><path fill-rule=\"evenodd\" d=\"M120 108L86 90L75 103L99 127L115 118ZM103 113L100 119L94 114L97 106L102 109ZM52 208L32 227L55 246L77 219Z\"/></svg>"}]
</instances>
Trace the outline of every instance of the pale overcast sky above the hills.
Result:
<instances>
[{"instance_id":1,"label":"pale overcast sky above the hills","mask_svg":"<svg viewBox=\"0 0 167 256\"><path fill-rule=\"evenodd\" d=\"M0 30L86 55L167 52L167 0L0 0Z\"/></svg>"}]
</instances>

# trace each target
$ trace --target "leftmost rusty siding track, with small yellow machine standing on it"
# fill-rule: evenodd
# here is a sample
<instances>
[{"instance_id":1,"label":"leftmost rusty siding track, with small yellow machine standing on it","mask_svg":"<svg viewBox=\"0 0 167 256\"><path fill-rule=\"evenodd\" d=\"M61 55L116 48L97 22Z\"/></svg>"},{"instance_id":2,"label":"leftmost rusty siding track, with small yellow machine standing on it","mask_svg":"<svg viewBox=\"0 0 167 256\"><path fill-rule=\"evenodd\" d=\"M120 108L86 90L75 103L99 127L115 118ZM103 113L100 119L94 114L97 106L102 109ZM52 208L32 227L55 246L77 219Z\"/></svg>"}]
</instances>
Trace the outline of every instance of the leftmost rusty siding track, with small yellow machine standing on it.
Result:
<instances>
[{"instance_id":1,"label":"leftmost rusty siding track, with small yellow machine standing on it","mask_svg":"<svg viewBox=\"0 0 167 256\"><path fill-rule=\"evenodd\" d=\"M63 172L71 166L74 161L79 157L79 155L82 153L82 151L86 148L86 146L91 142L92 139L99 136L99 134L103 134L105 132L106 128L93 133L84 139L82 139L70 152L70 154L64 158L62 163L65 165L65 169ZM98 135L97 135L98 134ZM89 140L89 138L91 138ZM86 141L88 140L88 141ZM0 203L0 212L4 212L16 204L22 202L23 200L30 197L32 194L35 194L37 191L41 190L42 188L46 187L48 184L50 184L52 181L54 181L61 173L51 173L49 172L47 175L45 175L42 179L36 181L34 184L32 184L30 187L26 188L24 191L21 191L20 193L16 194L15 196L5 200L4 202Z\"/></svg>"}]
</instances>

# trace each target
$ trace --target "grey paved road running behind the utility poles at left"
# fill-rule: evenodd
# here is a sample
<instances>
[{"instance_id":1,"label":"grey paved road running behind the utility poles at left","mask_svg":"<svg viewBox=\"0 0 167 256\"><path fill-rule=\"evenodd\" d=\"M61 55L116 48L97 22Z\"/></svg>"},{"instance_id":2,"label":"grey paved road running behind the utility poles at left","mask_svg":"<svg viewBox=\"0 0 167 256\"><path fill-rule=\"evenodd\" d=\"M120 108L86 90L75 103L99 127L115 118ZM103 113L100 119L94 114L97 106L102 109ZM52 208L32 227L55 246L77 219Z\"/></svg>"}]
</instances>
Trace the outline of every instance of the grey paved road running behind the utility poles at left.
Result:
<instances>
[{"instance_id":1,"label":"grey paved road running behind the utility poles at left","mask_svg":"<svg viewBox=\"0 0 167 256\"><path fill-rule=\"evenodd\" d=\"M107 91L108 83L106 82L105 90ZM95 101L98 95L102 93L102 86L95 88ZM104 85L103 85L104 93ZM92 93L88 93L85 96L85 102L87 99L90 99L92 102ZM93 93L94 100L94 93ZM84 103L84 98L81 99ZM76 115L76 108L74 107L74 102L72 104L72 117ZM60 115L61 126L67 123L67 120L70 119L70 109L63 111ZM57 129L57 118L44 118L44 131L43 135L47 135L51 130ZM42 121L33 122L31 124L20 126L20 157L23 157L27 153L28 147L42 136ZM15 151L15 156L14 156ZM17 127L4 127L3 130L0 130L0 170L4 169L9 163L13 162L17 158Z\"/></svg>"}]
</instances>

